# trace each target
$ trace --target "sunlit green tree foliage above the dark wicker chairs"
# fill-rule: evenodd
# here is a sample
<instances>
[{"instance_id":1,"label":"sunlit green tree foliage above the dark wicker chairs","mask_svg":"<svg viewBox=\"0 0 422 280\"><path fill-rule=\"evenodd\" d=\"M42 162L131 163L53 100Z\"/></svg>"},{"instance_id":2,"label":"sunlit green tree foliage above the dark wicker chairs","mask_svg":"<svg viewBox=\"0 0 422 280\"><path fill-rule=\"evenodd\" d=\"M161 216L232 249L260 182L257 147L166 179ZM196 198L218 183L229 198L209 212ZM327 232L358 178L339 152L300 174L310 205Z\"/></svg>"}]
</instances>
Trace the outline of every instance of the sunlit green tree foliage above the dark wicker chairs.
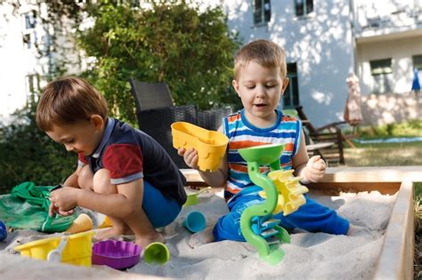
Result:
<instances>
[{"instance_id":1,"label":"sunlit green tree foliage above the dark wicker chairs","mask_svg":"<svg viewBox=\"0 0 422 280\"><path fill-rule=\"evenodd\" d=\"M96 60L86 76L114 115L135 121L130 77L166 82L176 105L237 102L229 84L239 41L220 8L200 12L184 1L151 2L150 8L102 2L88 13L95 23L81 31L78 42Z\"/></svg>"}]
</instances>

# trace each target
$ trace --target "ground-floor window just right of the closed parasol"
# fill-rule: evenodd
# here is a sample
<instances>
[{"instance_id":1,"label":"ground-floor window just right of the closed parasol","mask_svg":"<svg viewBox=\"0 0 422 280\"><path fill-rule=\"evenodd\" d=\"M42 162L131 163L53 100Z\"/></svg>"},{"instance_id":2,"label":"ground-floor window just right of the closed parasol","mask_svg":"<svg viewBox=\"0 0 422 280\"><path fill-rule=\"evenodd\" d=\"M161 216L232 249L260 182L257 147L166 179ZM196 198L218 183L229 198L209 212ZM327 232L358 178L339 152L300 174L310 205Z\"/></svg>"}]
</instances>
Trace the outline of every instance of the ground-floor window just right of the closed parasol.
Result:
<instances>
[{"instance_id":1,"label":"ground-floor window just right of the closed parasol","mask_svg":"<svg viewBox=\"0 0 422 280\"><path fill-rule=\"evenodd\" d=\"M369 61L370 74L373 77L374 86L372 92L385 93L392 92L393 69L391 59Z\"/></svg>"}]
</instances>

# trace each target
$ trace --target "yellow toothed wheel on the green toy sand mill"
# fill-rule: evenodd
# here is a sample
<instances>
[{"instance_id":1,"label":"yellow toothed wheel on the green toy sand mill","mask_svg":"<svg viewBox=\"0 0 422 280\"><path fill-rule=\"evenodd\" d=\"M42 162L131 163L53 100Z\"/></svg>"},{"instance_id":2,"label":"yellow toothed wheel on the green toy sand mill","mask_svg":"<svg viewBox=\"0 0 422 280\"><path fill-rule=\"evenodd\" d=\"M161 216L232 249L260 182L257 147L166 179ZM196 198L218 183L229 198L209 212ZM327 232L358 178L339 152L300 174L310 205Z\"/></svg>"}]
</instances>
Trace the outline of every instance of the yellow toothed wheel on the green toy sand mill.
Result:
<instances>
[{"instance_id":1,"label":"yellow toothed wheel on the green toy sand mill","mask_svg":"<svg viewBox=\"0 0 422 280\"><path fill-rule=\"evenodd\" d=\"M299 183L300 178L293 176L293 172L295 171L276 170L267 175L279 192L278 203L272 212L273 214L283 212L283 215L287 216L306 203L303 195L309 189ZM260 192L259 195L266 198L264 191Z\"/></svg>"}]
</instances>

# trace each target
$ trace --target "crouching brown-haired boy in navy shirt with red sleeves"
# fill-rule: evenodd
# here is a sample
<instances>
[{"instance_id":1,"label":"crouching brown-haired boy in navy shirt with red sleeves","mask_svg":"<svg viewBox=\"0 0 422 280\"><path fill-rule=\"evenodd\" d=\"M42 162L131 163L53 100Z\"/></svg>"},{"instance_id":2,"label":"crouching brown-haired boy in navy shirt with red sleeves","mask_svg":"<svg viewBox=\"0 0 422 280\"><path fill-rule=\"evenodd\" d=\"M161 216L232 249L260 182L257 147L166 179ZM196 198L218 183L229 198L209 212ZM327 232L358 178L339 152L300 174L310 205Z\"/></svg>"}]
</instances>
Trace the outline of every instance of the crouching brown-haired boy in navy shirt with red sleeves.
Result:
<instances>
[{"instance_id":1,"label":"crouching brown-haired boy in navy shirt with red sleeves","mask_svg":"<svg viewBox=\"0 0 422 280\"><path fill-rule=\"evenodd\" d=\"M155 228L181 211L186 180L156 140L107 115L106 100L84 79L69 76L45 86L37 125L78 156L76 171L51 193L50 214L69 215L82 206L112 222L98 239L134 234L143 248L164 242Z\"/></svg>"}]
</instances>

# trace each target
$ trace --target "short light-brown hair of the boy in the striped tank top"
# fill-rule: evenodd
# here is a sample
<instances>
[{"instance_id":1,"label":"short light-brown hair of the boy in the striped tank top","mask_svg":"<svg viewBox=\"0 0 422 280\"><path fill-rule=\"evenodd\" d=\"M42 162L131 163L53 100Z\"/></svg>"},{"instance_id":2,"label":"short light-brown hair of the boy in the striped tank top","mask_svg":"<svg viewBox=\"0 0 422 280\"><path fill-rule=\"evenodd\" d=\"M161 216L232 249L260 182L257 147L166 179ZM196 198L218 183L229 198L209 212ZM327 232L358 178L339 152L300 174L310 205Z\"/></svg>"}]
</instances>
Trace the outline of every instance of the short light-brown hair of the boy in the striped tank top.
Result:
<instances>
[{"instance_id":1,"label":"short light-brown hair of the boy in the striped tank top","mask_svg":"<svg viewBox=\"0 0 422 280\"><path fill-rule=\"evenodd\" d=\"M268 40L256 40L245 44L234 59L234 79L239 79L239 69L250 61L264 68L280 68L281 78L287 75L286 54L280 45Z\"/></svg>"}]
</instances>

